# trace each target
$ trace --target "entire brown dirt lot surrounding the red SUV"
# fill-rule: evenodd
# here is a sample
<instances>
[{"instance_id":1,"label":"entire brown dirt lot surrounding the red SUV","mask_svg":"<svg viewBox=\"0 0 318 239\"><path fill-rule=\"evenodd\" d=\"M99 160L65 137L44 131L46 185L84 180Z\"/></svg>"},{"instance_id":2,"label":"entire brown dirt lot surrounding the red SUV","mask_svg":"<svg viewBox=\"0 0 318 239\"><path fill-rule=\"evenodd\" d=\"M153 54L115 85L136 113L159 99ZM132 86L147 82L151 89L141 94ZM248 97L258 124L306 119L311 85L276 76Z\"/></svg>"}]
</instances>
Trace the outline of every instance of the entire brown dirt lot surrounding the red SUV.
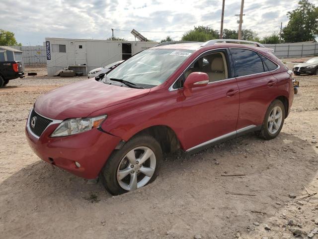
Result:
<instances>
[{"instance_id":1,"label":"entire brown dirt lot surrounding the red SUV","mask_svg":"<svg viewBox=\"0 0 318 239\"><path fill-rule=\"evenodd\" d=\"M0 89L0 239L289 239L318 227L318 76L297 77L301 87L277 138L248 134L173 155L154 183L112 197L28 146L35 100L86 79L44 75ZM222 176L231 174L244 176Z\"/></svg>"}]
</instances>

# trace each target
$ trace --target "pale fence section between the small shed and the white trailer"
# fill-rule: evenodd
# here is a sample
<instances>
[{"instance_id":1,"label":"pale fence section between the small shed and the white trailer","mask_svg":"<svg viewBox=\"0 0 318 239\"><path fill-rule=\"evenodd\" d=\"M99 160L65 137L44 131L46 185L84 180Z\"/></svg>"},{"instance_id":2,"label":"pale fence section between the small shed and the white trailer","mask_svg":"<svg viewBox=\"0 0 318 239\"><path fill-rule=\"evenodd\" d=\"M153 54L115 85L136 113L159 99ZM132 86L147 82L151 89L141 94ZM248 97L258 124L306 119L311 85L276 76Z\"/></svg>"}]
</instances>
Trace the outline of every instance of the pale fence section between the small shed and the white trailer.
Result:
<instances>
[{"instance_id":1,"label":"pale fence section between the small shed and the white trailer","mask_svg":"<svg viewBox=\"0 0 318 239\"><path fill-rule=\"evenodd\" d=\"M24 65L46 64L46 50L44 46L11 46L23 51Z\"/></svg>"}]
</instances>

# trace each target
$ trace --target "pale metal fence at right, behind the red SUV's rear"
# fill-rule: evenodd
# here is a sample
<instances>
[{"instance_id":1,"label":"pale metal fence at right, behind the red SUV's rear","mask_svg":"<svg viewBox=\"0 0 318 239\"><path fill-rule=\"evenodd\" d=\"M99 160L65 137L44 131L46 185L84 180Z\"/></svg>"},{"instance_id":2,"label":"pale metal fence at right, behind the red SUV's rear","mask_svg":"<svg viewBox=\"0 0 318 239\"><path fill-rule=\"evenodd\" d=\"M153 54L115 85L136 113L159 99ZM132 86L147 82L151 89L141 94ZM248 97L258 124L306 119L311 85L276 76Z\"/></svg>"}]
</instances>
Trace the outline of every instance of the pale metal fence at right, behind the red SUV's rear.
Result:
<instances>
[{"instance_id":1,"label":"pale metal fence at right, behind the red SUV's rear","mask_svg":"<svg viewBox=\"0 0 318 239\"><path fill-rule=\"evenodd\" d=\"M265 47L274 49L274 55L278 58L303 57L318 55L318 43L297 42L283 44L263 44Z\"/></svg>"}]
</instances>

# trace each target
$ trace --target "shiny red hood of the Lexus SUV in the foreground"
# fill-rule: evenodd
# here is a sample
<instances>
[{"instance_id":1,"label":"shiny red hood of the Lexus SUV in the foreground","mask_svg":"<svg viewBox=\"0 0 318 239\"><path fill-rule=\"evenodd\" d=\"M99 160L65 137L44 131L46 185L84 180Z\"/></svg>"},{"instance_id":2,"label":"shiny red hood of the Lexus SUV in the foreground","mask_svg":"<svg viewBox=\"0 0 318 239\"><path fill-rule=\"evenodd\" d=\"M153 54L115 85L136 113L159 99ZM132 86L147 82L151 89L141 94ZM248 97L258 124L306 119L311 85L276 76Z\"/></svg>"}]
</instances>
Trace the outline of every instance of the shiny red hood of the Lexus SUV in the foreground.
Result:
<instances>
[{"instance_id":1,"label":"shiny red hood of the Lexus SUV in the foreground","mask_svg":"<svg viewBox=\"0 0 318 239\"><path fill-rule=\"evenodd\" d=\"M35 102L35 111L50 119L87 117L106 107L146 96L150 89L113 86L89 79L55 89Z\"/></svg>"}]
</instances>

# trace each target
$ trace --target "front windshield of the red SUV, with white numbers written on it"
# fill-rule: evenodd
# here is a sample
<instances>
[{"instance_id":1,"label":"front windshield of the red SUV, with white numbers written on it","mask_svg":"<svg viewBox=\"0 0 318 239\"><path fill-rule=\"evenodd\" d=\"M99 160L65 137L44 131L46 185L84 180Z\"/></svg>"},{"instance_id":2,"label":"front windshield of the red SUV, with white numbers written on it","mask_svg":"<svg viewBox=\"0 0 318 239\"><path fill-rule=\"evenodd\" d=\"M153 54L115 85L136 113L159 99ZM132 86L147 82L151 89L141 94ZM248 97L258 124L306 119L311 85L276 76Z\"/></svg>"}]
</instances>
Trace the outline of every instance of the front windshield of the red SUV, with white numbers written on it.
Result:
<instances>
[{"instance_id":1,"label":"front windshield of the red SUV, with white numbers written on it","mask_svg":"<svg viewBox=\"0 0 318 239\"><path fill-rule=\"evenodd\" d=\"M158 86L185 61L193 50L148 49L129 58L107 74L137 85Z\"/></svg>"}]
</instances>

